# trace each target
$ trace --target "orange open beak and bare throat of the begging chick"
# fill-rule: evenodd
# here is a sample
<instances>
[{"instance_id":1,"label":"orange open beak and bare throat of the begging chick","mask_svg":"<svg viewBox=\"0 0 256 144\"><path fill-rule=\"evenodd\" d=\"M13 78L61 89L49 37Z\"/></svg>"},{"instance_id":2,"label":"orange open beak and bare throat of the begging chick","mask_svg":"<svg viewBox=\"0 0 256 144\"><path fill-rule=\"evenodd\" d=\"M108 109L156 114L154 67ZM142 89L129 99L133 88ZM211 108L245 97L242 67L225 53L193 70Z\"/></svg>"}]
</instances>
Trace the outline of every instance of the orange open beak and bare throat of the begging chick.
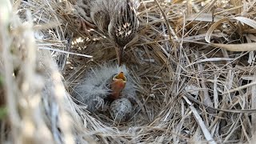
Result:
<instances>
[{"instance_id":1,"label":"orange open beak and bare throat of the begging chick","mask_svg":"<svg viewBox=\"0 0 256 144\"><path fill-rule=\"evenodd\" d=\"M117 99L120 97L122 90L126 86L126 77L123 72L114 76L113 81L111 82L111 99Z\"/></svg>"}]
</instances>

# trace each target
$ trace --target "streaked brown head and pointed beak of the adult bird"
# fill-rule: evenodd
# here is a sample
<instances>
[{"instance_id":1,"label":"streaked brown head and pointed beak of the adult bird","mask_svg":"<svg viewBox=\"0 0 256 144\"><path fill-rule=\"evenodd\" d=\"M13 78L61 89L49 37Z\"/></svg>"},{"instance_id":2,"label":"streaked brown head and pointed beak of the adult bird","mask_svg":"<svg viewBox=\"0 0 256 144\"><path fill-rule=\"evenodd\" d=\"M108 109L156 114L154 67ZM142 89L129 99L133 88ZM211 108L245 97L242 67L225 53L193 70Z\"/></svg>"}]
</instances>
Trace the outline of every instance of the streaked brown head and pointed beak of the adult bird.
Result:
<instances>
[{"instance_id":1,"label":"streaked brown head and pointed beak of the adult bird","mask_svg":"<svg viewBox=\"0 0 256 144\"><path fill-rule=\"evenodd\" d=\"M133 0L122 0L119 2L117 10L114 11L112 18L110 18L108 35L116 44L115 50L118 65L121 66L124 49L138 32L138 18Z\"/></svg>"}]
</instances>

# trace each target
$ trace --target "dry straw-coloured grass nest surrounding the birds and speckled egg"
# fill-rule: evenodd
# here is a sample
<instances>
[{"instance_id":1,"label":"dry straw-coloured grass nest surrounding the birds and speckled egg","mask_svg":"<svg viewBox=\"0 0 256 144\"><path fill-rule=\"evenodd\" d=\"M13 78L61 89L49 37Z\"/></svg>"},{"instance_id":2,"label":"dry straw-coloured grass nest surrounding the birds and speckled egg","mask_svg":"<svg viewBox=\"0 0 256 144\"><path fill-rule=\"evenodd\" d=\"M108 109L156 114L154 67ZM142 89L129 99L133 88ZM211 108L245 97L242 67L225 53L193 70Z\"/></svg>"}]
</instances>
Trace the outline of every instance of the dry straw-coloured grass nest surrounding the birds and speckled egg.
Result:
<instances>
[{"instance_id":1,"label":"dry straw-coloured grass nest surrounding the birds and speckled egg","mask_svg":"<svg viewBox=\"0 0 256 144\"><path fill-rule=\"evenodd\" d=\"M256 1L140 1L124 63L141 103L127 122L74 102L86 72L117 59L73 4L0 2L1 142L254 142Z\"/></svg>"}]
</instances>

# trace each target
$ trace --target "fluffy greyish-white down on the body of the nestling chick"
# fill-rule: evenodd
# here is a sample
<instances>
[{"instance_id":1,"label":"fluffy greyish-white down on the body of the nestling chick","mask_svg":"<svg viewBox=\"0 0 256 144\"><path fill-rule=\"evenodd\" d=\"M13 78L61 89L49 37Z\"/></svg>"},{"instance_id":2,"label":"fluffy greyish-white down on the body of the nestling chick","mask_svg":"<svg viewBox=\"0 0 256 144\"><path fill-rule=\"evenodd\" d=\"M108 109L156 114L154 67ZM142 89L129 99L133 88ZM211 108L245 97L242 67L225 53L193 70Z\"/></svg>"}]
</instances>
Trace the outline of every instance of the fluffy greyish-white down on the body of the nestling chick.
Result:
<instances>
[{"instance_id":1,"label":"fluffy greyish-white down on the body of the nestling chick","mask_svg":"<svg viewBox=\"0 0 256 144\"><path fill-rule=\"evenodd\" d=\"M126 66L107 65L93 67L86 72L85 78L74 88L74 98L86 104L87 110L95 111L104 106L104 98L110 94L110 82L114 74L123 72L127 78L126 86L122 90L122 97L134 99L136 96L133 78Z\"/></svg>"}]
</instances>

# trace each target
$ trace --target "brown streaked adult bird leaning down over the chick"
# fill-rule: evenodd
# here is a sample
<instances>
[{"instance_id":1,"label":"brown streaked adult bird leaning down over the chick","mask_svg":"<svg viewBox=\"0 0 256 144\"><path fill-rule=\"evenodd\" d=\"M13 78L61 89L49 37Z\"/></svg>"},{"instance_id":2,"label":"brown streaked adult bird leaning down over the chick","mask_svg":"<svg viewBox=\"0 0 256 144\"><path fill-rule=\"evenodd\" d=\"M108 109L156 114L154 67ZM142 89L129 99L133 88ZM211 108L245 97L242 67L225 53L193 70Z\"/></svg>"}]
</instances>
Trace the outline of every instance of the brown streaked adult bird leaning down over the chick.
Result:
<instances>
[{"instance_id":1,"label":"brown streaked adult bird leaning down over the chick","mask_svg":"<svg viewBox=\"0 0 256 144\"><path fill-rule=\"evenodd\" d=\"M136 4L137 0L78 0L74 6L86 23L94 24L114 43L119 66L125 46L138 31Z\"/></svg>"}]
</instances>

